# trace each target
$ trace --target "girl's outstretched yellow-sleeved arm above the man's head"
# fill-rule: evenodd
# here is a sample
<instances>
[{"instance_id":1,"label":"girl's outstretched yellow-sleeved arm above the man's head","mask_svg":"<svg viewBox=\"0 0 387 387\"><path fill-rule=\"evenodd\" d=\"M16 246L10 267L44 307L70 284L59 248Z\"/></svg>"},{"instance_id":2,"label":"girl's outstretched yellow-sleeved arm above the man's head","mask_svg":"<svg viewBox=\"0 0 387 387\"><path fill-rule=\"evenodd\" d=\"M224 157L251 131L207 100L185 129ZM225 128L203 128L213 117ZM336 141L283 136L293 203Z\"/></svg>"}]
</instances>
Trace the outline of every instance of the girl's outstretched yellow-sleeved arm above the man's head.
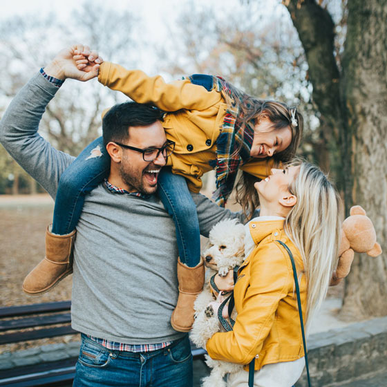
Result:
<instances>
[{"instance_id":1,"label":"girl's outstretched yellow-sleeved arm above the man's head","mask_svg":"<svg viewBox=\"0 0 387 387\"><path fill-rule=\"evenodd\" d=\"M202 111L222 100L217 91L207 91L188 79L167 84L160 75L148 77L140 70L126 70L111 62L101 64L98 80L112 90L122 91L135 102L154 104L164 111Z\"/></svg>"}]
</instances>

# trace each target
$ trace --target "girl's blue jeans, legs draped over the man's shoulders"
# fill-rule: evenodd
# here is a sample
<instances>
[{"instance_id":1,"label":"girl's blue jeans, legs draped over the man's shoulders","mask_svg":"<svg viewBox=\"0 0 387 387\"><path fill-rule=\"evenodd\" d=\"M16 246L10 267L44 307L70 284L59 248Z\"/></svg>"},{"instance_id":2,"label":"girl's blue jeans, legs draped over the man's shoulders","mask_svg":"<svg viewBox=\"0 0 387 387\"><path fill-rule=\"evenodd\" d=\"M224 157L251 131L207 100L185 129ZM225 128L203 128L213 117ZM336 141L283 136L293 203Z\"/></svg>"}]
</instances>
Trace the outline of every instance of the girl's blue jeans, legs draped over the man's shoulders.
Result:
<instances>
[{"instance_id":1,"label":"girl's blue jeans, legs draped over the man's shoulders","mask_svg":"<svg viewBox=\"0 0 387 387\"><path fill-rule=\"evenodd\" d=\"M75 229L85 195L108 176L110 162L102 138L98 138L62 173L55 198L54 234L64 235ZM196 206L185 178L171 173L169 167L162 168L158 195L175 222L180 261L195 267L200 261L200 230Z\"/></svg>"}]
</instances>

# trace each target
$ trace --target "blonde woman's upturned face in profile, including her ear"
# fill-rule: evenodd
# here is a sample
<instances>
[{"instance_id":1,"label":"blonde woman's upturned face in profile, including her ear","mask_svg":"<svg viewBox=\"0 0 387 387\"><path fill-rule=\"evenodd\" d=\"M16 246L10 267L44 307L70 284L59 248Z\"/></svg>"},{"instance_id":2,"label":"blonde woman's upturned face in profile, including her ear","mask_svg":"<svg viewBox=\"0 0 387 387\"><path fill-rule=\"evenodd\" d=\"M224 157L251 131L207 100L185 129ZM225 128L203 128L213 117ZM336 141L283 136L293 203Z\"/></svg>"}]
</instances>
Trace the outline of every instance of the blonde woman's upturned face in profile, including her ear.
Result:
<instances>
[{"instance_id":1,"label":"blonde woman's upturned face in profile, including her ear","mask_svg":"<svg viewBox=\"0 0 387 387\"><path fill-rule=\"evenodd\" d=\"M285 209L284 207L293 207L295 196L290 193L289 185L296 178L299 169L299 166L273 168L270 176L256 182L254 187L258 192L261 207L281 211Z\"/></svg>"}]
</instances>

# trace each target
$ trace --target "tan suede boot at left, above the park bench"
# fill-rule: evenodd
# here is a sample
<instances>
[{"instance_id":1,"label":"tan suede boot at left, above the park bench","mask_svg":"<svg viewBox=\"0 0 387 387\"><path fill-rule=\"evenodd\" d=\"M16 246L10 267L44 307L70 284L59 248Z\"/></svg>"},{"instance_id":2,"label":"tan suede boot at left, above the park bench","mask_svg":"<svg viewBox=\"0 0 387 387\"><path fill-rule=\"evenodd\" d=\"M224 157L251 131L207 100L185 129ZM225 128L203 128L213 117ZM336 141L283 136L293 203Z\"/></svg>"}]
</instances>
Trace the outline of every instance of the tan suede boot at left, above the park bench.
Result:
<instances>
[{"instance_id":1,"label":"tan suede boot at left, above the park bench","mask_svg":"<svg viewBox=\"0 0 387 387\"><path fill-rule=\"evenodd\" d=\"M39 294L50 290L68 274L73 272L73 247L75 230L66 235L55 235L46 230L46 256L26 276L23 291Z\"/></svg>"}]
</instances>

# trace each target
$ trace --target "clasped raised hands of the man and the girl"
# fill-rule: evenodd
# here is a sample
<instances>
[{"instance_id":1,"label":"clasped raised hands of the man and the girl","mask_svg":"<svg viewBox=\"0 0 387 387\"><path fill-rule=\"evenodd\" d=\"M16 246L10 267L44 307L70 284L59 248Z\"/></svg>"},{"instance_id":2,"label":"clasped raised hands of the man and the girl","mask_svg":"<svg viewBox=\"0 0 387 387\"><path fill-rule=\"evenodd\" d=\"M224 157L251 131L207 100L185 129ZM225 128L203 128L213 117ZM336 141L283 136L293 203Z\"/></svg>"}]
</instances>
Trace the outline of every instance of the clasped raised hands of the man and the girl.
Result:
<instances>
[{"instance_id":1,"label":"clasped raised hands of the man and the girl","mask_svg":"<svg viewBox=\"0 0 387 387\"><path fill-rule=\"evenodd\" d=\"M74 56L79 55L79 53L94 59L93 62L88 62L88 65L84 66L84 68L87 68L87 72L86 70L79 70L79 68L77 68ZM84 46L83 44L75 44L70 48L64 48L64 50L59 51L53 59L53 62L48 64L48 66L44 68L44 71L47 75L57 79L72 78L86 82L89 79L97 77L101 63L102 58L98 56L96 51L90 50L88 46Z\"/></svg>"}]
</instances>

